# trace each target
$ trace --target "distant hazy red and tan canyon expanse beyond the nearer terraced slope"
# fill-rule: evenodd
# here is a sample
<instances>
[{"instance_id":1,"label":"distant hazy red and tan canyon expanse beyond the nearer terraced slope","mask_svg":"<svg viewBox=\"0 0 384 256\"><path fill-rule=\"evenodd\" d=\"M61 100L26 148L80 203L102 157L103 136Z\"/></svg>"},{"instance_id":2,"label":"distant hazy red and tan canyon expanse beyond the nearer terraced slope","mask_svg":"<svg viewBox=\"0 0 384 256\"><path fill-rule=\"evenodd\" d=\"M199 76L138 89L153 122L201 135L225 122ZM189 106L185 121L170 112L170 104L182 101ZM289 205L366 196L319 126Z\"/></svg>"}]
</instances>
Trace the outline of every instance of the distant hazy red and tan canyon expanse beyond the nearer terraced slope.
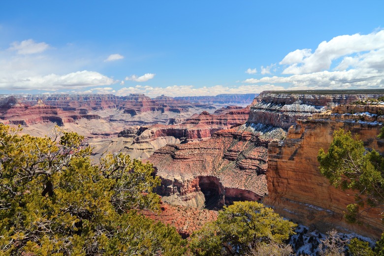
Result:
<instances>
[{"instance_id":1,"label":"distant hazy red and tan canyon expanse beyond the nearer terraced slope","mask_svg":"<svg viewBox=\"0 0 384 256\"><path fill-rule=\"evenodd\" d=\"M202 139L244 123L249 108L228 107L229 101L248 105L254 96L224 95L227 101L204 103L168 96L151 99L140 94L3 95L0 122L22 125L24 133L34 136L45 136L56 125L76 131L94 147L95 160L106 152L118 151L146 159L168 143Z\"/></svg>"}]
</instances>

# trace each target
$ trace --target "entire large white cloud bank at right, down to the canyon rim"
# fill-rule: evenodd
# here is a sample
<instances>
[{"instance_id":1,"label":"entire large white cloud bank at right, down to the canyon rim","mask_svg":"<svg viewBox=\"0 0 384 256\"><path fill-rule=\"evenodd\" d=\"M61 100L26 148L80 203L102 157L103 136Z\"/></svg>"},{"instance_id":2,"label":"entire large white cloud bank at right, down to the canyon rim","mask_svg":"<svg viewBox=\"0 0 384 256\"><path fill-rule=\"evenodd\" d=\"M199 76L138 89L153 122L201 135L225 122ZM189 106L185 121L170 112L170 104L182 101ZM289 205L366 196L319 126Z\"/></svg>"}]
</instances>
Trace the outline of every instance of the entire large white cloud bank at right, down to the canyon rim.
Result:
<instances>
[{"instance_id":1,"label":"entire large white cloud bank at right, down to the canyon rim","mask_svg":"<svg viewBox=\"0 0 384 256\"><path fill-rule=\"evenodd\" d=\"M297 49L279 63L282 75L243 81L278 84L290 90L365 89L384 87L384 30L370 34L340 35L317 49ZM273 66L273 65L272 65ZM270 73L271 66L261 68Z\"/></svg>"}]
</instances>

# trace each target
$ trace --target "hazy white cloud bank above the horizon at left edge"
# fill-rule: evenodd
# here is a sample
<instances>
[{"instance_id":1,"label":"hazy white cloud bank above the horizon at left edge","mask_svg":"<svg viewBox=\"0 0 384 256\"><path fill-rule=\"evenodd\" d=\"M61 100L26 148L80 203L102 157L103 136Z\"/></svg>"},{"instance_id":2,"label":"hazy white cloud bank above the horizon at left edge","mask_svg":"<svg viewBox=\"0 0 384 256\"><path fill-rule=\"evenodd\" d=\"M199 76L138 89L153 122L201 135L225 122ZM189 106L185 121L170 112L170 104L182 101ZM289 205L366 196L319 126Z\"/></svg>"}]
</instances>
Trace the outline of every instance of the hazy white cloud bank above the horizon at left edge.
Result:
<instances>
[{"instance_id":1,"label":"hazy white cloud bank above the horizon at left edge","mask_svg":"<svg viewBox=\"0 0 384 256\"><path fill-rule=\"evenodd\" d=\"M116 81L96 71L69 71L78 68L44 52L50 46L32 39L12 42L0 51L0 89L58 91L108 86ZM66 72L63 67L66 68Z\"/></svg>"}]
</instances>

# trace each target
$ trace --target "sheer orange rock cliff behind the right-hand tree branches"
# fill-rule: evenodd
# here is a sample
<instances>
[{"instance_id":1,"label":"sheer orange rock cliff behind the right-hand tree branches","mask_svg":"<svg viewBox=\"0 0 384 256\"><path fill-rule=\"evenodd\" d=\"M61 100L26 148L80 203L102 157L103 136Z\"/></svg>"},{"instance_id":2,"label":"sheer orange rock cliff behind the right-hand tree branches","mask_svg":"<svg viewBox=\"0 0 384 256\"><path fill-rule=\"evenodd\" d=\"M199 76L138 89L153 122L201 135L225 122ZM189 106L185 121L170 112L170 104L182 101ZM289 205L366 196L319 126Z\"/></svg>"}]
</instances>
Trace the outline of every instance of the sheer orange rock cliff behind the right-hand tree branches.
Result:
<instances>
[{"instance_id":1,"label":"sheer orange rock cliff behind the right-hand tree branches","mask_svg":"<svg viewBox=\"0 0 384 256\"><path fill-rule=\"evenodd\" d=\"M362 225L347 224L346 206L354 202L352 191L343 192L329 184L319 172L317 155L328 149L338 128L359 135L366 147L384 151L377 138L382 127L383 106L341 105L332 112L298 120L288 130L287 139L268 146L267 186L264 203L284 217L299 223L315 224L322 231L338 228L378 238L384 230L378 209L362 214ZM352 114L353 113L353 114Z\"/></svg>"}]
</instances>

